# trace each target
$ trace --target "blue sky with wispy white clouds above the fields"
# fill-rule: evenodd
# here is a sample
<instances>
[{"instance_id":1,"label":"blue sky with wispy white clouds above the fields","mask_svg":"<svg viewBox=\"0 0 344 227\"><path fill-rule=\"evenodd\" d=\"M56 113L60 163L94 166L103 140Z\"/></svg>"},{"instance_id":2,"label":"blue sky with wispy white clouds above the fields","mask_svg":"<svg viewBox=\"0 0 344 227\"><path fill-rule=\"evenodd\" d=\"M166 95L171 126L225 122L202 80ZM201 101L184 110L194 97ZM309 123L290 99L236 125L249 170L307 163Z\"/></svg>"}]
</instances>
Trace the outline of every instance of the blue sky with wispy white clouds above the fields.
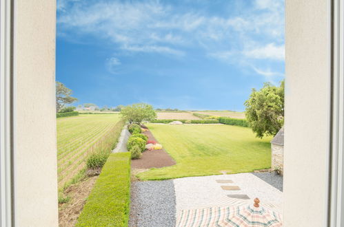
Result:
<instances>
[{"instance_id":1,"label":"blue sky with wispy white clouds above the fields","mask_svg":"<svg viewBox=\"0 0 344 227\"><path fill-rule=\"evenodd\" d=\"M284 56L284 1L57 1L56 76L77 104L241 111Z\"/></svg>"}]
</instances>

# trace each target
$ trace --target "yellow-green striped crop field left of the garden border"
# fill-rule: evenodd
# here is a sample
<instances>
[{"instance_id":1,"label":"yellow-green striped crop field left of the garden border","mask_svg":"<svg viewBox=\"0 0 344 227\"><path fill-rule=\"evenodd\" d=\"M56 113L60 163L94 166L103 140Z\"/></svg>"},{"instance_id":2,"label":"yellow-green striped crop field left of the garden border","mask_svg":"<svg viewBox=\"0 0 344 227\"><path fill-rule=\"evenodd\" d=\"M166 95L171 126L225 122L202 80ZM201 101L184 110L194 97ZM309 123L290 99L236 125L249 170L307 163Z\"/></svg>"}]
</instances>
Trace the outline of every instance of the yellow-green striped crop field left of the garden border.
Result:
<instances>
[{"instance_id":1,"label":"yellow-green striped crop field left of the garden border","mask_svg":"<svg viewBox=\"0 0 344 227\"><path fill-rule=\"evenodd\" d=\"M63 186L85 166L85 159L109 134L123 127L117 114L83 114L57 119L58 184Z\"/></svg>"}]
</instances>

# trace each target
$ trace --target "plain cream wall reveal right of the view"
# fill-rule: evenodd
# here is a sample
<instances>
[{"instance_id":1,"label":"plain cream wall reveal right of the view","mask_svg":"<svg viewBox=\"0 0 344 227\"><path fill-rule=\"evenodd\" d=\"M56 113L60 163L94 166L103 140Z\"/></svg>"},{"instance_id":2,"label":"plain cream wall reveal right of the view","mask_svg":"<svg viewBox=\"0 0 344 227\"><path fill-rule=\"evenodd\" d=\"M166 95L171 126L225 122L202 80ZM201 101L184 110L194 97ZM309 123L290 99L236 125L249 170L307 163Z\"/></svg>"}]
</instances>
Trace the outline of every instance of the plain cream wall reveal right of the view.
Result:
<instances>
[{"instance_id":1,"label":"plain cream wall reveal right of the view","mask_svg":"<svg viewBox=\"0 0 344 227\"><path fill-rule=\"evenodd\" d=\"M286 3L284 226L325 226L329 151L326 0Z\"/></svg>"}]
</instances>

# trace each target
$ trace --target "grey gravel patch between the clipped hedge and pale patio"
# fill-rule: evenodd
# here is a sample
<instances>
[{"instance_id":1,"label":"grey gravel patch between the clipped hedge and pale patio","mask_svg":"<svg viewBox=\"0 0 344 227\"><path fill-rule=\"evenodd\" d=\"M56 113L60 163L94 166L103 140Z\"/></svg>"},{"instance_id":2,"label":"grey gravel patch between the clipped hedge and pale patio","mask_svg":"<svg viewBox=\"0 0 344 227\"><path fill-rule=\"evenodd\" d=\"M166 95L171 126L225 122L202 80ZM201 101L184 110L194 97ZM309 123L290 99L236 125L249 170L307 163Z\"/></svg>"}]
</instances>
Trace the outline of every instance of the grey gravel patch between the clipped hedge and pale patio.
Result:
<instances>
[{"instance_id":1,"label":"grey gravel patch between the clipped hedge and pale patio","mask_svg":"<svg viewBox=\"0 0 344 227\"><path fill-rule=\"evenodd\" d=\"M176 196L172 180L132 182L129 226L175 224Z\"/></svg>"}]
</instances>

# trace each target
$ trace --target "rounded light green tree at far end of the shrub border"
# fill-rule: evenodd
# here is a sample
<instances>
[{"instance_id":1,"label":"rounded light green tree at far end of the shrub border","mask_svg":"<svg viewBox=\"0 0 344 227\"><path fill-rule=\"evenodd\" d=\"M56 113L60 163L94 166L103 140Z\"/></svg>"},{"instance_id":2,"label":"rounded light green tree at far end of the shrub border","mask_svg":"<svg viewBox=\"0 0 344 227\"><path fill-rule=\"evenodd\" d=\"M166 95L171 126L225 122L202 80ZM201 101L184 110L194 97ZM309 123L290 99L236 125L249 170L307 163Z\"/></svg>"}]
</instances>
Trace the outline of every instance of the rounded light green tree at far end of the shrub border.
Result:
<instances>
[{"instance_id":1,"label":"rounded light green tree at far end of the shrub border","mask_svg":"<svg viewBox=\"0 0 344 227\"><path fill-rule=\"evenodd\" d=\"M156 113L152 105L146 103L136 103L125 106L121 109L121 115L130 123L136 122L141 124L144 120L151 121L156 118Z\"/></svg>"}]
</instances>

